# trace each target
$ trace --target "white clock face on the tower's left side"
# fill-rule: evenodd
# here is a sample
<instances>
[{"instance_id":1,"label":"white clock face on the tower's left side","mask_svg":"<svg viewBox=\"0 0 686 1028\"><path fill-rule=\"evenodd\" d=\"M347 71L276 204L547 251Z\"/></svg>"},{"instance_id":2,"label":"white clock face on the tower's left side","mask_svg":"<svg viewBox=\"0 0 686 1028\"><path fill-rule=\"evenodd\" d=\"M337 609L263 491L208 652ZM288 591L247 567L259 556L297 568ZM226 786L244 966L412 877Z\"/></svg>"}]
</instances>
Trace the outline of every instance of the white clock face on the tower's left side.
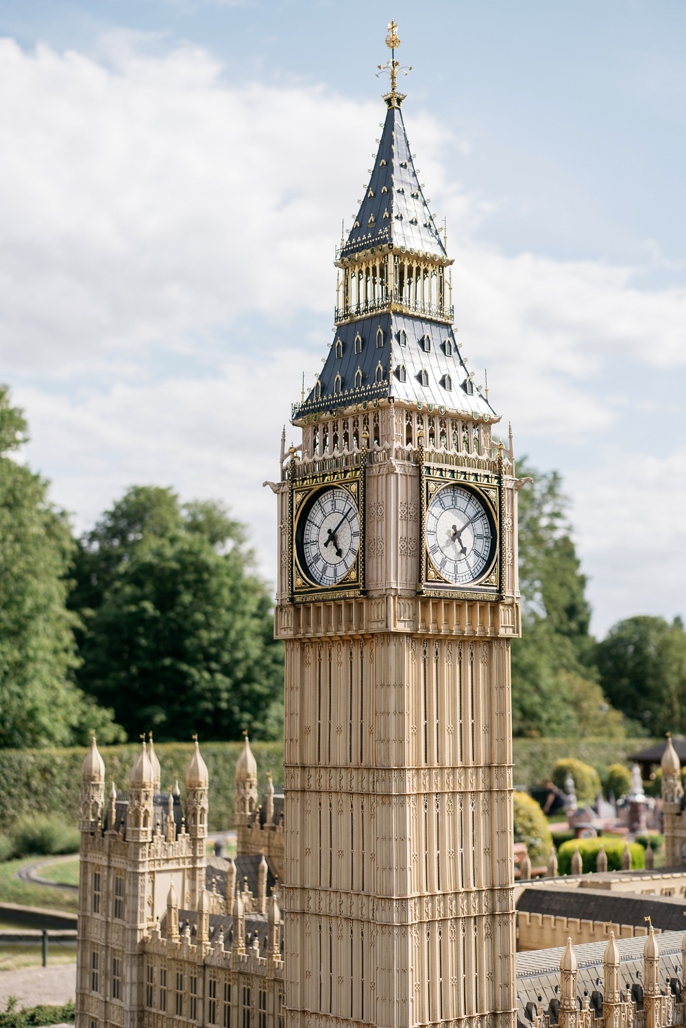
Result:
<instances>
[{"instance_id":1,"label":"white clock face on the tower's left side","mask_svg":"<svg viewBox=\"0 0 686 1028\"><path fill-rule=\"evenodd\" d=\"M315 493L300 515L296 543L300 566L317 585L346 577L360 548L360 515L348 489Z\"/></svg>"}]
</instances>

